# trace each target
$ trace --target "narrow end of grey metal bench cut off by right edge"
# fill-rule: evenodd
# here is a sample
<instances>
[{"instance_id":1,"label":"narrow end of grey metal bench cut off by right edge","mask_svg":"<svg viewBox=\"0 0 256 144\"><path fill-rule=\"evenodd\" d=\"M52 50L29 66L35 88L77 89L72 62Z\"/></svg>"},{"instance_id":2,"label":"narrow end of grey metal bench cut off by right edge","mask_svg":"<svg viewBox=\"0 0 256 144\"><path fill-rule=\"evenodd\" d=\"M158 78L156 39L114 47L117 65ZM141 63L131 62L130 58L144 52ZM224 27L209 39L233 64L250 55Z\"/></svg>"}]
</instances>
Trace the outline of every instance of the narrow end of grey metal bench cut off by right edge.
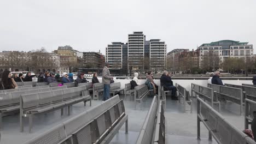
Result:
<instances>
[{"instance_id":1,"label":"narrow end of grey metal bench cut off by right edge","mask_svg":"<svg viewBox=\"0 0 256 144\"><path fill-rule=\"evenodd\" d=\"M252 123L253 111L256 111L256 101L245 99L245 129Z\"/></svg>"}]
</instances>

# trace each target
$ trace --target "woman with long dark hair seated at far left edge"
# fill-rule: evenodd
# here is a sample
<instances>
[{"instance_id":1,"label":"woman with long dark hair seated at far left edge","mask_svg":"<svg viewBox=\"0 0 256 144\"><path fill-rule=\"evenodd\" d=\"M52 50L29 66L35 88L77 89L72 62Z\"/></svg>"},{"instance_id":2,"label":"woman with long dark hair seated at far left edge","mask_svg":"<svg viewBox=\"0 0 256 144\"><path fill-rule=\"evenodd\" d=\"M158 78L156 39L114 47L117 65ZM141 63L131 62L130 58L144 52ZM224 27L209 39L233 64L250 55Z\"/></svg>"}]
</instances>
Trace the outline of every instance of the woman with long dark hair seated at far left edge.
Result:
<instances>
[{"instance_id":1,"label":"woman with long dark hair seated at far left edge","mask_svg":"<svg viewBox=\"0 0 256 144\"><path fill-rule=\"evenodd\" d=\"M2 87L4 89L14 89L14 88L18 88L18 85L16 84L16 82L14 81L13 78L11 78L11 73L9 70L4 70L3 74L2 74Z\"/></svg>"}]
</instances>

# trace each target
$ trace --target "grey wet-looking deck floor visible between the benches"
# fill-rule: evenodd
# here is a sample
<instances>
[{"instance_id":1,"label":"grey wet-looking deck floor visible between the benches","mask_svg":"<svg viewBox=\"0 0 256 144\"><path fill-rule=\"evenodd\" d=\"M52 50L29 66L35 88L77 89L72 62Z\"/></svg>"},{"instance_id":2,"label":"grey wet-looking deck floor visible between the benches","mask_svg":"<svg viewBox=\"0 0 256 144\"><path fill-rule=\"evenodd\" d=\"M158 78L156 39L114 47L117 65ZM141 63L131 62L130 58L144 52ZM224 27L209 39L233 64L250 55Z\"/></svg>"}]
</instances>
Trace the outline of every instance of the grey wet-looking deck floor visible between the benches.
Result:
<instances>
[{"instance_id":1,"label":"grey wet-looking deck floor visible between the benches","mask_svg":"<svg viewBox=\"0 0 256 144\"><path fill-rule=\"evenodd\" d=\"M120 95L123 99L123 95ZM141 105L135 109L135 103L130 97L124 100L125 110L129 116L129 134L125 134L125 125L120 129L119 133L114 136L111 143L136 143L139 131L147 115L152 97L145 98ZM181 101L183 103L183 101ZM101 100L93 100L92 106L98 105ZM20 133L19 115L6 116L3 118L4 127L1 129L1 144L24 143L32 139L34 136L42 134L46 130L54 127L59 123L67 121L85 110L90 109L89 103L84 106L83 103L75 104L71 108L71 115L67 115L67 109L61 116L61 110L56 110L48 114L35 115L33 118L33 131L28 133L28 119L25 120L25 131ZM167 96L166 102L166 143L217 143L216 141L208 141L208 131L201 123L201 140L197 140L197 122L196 122L196 99L193 99L193 113L190 113L190 106L187 104L186 113L183 112L183 105L178 101L171 100ZM222 104L220 112L228 121L237 128L243 130L244 117L240 116L240 106L228 102Z\"/></svg>"}]
</instances>

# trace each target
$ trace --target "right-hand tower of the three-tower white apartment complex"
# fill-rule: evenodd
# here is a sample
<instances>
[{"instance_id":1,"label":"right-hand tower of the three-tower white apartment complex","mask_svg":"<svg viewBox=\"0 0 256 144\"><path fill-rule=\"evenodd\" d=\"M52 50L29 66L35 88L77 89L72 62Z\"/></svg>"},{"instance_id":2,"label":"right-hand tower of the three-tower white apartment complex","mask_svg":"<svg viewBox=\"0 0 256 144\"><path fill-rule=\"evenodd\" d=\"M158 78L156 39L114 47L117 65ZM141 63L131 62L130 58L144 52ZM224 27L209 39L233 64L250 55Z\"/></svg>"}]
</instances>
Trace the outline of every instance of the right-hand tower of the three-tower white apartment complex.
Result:
<instances>
[{"instance_id":1,"label":"right-hand tower of the three-tower white apartment complex","mask_svg":"<svg viewBox=\"0 0 256 144\"><path fill-rule=\"evenodd\" d=\"M166 69L166 49L165 41L160 39L151 39L149 43L149 59L150 69L165 70Z\"/></svg>"}]
</instances>

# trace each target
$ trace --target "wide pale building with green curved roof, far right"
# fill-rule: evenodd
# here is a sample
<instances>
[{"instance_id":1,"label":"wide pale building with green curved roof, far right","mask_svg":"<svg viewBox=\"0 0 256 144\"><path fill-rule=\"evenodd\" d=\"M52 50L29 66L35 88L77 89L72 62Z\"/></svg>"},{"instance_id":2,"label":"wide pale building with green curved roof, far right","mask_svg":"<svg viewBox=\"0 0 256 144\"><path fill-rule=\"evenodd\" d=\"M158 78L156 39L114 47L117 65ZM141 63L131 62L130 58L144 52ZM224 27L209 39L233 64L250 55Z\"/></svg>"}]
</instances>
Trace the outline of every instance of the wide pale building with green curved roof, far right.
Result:
<instances>
[{"instance_id":1,"label":"wide pale building with green curved roof, far right","mask_svg":"<svg viewBox=\"0 0 256 144\"><path fill-rule=\"evenodd\" d=\"M214 51L219 56L220 63L224 63L228 57L246 58L253 57L253 45L247 42L234 40L220 40L212 43L202 44L197 48L199 50L199 66L202 65L202 58L208 52Z\"/></svg>"}]
</instances>

